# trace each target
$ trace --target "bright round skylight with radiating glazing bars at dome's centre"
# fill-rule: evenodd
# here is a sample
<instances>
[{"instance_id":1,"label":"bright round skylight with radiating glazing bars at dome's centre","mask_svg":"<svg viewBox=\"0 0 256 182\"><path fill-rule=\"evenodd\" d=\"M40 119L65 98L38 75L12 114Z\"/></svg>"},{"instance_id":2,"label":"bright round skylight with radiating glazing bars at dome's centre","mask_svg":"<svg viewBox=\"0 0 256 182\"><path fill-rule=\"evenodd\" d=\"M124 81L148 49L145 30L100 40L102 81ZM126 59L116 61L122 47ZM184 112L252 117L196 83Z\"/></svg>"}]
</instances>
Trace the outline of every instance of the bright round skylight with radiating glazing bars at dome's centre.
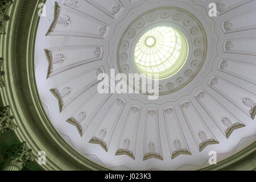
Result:
<instances>
[{"instance_id":1,"label":"bright round skylight with radiating glazing bars at dome's centre","mask_svg":"<svg viewBox=\"0 0 256 182\"><path fill-rule=\"evenodd\" d=\"M139 72L154 79L174 76L188 57L185 36L171 27L155 27L139 39L134 60Z\"/></svg>"}]
</instances>

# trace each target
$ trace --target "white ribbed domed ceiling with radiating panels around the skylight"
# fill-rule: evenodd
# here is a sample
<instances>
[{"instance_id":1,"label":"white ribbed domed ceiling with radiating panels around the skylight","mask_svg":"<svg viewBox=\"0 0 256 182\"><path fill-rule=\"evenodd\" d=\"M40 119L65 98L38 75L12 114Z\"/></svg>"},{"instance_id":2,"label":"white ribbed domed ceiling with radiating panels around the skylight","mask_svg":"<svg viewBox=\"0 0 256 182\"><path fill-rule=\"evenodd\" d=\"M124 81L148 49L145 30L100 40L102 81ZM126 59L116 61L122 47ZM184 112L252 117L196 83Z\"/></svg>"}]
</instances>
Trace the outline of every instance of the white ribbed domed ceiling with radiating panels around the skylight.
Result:
<instances>
[{"instance_id":1,"label":"white ribbed domed ceiling with radiating panels around the skylight","mask_svg":"<svg viewBox=\"0 0 256 182\"><path fill-rule=\"evenodd\" d=\"M86 158L117 170L191 170L207 166L210 151L221 160L255 140L256 1L48 0L45 10L38 92L52 125ZM143 62L138 49L163 56ZM143 73L138 65L168 70L156 100L98 93L100 73Z\"/></svg>"}]
</instances>

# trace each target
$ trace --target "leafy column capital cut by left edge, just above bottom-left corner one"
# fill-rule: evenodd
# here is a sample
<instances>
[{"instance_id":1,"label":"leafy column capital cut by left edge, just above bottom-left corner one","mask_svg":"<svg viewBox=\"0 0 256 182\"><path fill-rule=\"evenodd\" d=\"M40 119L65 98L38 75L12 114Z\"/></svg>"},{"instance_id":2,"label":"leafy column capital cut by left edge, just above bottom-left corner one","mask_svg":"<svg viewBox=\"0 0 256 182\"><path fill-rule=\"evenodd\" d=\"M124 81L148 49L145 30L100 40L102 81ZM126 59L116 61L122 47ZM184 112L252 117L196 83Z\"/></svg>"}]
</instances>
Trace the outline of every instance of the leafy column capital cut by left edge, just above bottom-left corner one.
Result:
<instances>
[{"instance_id":1,"label":"leafy column capital cut by left edge, just above bottom-left corner one","mask_svg":"<svg viewBox=\"0 0 256 182\"><path fill-rule=\"evenodd\" d=\"M0 133L15 130L17 126L13 121L14 117L10 114L10 106L6 106L0 111Z\"/></svg>"}]
</instances>

